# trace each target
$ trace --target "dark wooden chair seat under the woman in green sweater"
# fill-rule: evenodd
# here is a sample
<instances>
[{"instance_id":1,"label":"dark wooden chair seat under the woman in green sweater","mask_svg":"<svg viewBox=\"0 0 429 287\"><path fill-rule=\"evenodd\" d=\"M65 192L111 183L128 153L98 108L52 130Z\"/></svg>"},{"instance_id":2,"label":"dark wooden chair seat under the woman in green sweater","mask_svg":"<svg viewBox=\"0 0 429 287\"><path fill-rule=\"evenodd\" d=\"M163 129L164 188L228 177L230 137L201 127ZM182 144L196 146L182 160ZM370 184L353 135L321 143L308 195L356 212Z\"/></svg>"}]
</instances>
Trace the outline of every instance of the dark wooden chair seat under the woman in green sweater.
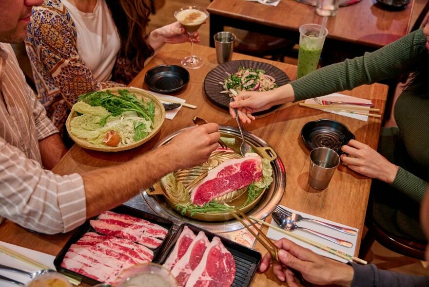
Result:
<instances>
[{"instance_id":1,"label":"dark wooden chair seat under the woman in green sweater","mask_svg":"<svg viewBox=\"0 0 429 287\"><path fill-rule=\"evenodd\" d=\"M372 244L377 240L378 243L391 251L419 260L425 260L427 242L412 241L387 233L375 222L366 222L365 225L368 227L368 232L362 240L359 258L365 258L370 252Z\"/></svg>"}]
</instances>

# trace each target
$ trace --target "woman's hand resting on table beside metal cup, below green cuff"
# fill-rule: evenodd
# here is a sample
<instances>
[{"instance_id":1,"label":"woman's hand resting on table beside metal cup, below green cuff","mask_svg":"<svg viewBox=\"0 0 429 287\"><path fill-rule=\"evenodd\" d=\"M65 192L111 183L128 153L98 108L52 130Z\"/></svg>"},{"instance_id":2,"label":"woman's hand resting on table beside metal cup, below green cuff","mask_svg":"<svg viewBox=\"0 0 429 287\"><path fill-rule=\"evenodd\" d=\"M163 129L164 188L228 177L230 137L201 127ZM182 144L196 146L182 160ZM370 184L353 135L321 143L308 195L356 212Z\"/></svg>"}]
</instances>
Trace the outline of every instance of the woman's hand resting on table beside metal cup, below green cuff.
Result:
<instances>
[{"instance_id":1,"label":"woman's hand resting on table beside metal cup, below green cuff","mask_svg":"<svg viewBox=\"0 0 429 287\"><path fill-rule=\"evenodd\" d=\"M380 179L392 183L398 172L398 166L388 161L367 144L351 140L348 145L343 145L341 150L347 155L341 155L341 160L355 172L363 174L371 179Z\"/></svg>"}]
</instances>

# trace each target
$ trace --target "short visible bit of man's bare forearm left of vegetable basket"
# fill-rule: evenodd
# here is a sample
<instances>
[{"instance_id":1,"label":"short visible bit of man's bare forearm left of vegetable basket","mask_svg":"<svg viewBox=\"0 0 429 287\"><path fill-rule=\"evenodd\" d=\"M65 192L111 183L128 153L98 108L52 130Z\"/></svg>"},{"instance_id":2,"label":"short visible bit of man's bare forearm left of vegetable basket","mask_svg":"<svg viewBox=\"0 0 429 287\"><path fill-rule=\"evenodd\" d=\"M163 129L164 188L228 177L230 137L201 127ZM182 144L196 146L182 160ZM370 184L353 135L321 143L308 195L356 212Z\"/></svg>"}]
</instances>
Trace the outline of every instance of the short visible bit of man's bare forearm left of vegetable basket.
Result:
<instances>
[{"instance_id":1,"label":"short visible bit of man's bare forearm left of vegetable basket","mask_svg":"<svg viewBox=\"0 0 429 287\"><path fill-rule=\"evenodd\" d=\"M39 149L43 167L46 169L52 169L67 152L58 133L41 140Z\"/></svg>"}]
</instances>

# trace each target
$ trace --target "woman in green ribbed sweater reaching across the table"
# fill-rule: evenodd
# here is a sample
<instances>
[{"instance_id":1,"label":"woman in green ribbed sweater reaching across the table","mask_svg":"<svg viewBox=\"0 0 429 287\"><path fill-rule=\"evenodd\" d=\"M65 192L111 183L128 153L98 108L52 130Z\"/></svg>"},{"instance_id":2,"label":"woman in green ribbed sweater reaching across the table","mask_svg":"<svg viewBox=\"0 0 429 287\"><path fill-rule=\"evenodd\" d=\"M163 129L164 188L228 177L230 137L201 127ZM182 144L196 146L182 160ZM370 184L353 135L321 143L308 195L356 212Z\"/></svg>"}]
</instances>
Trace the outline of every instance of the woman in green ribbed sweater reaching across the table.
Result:
<instances>
[{"instance_id":1,"label":"woman in green ribbed sweater reaching across the table","mask_svg":"<svg viewBox=\"0 0 429 287\"><path fill-rule=\"evenodd\" d=\"M372 181L369 210L380 227L396 236L425 241L418 210L429 181L428 38L426 25L373 53L323 67L277 89L240 92L230 106L238 108L243 123L250 123L255 119L252 113L274 105L411 73L394 106L397 127L382 129L379 152L352 140L342 146L346 154L341 160L351 170L378 179Z\"/></svg>"}]
</instances>

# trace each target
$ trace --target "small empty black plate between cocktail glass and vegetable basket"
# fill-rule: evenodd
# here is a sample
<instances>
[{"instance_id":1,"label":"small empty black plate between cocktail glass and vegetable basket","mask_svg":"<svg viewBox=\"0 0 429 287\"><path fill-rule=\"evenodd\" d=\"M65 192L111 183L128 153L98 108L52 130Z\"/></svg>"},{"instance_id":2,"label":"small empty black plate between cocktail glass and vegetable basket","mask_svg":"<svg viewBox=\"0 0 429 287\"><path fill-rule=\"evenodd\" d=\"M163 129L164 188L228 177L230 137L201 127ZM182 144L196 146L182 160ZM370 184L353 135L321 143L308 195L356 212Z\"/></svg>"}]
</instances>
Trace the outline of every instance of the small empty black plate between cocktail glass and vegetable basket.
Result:
<instances>
[{"instance_id":1,"label":"small empty black plate between cocktail glass and vegetable basket","mask_svg":"<svg viewBox=\"0 0 429 287\"><path fill-rule=\"evenodd\" d=\"M176 65L159 65L146 72L144 82L151 90L160 93L173 93L188 85L189 72Z\"/></svg>"}]
</instances>

